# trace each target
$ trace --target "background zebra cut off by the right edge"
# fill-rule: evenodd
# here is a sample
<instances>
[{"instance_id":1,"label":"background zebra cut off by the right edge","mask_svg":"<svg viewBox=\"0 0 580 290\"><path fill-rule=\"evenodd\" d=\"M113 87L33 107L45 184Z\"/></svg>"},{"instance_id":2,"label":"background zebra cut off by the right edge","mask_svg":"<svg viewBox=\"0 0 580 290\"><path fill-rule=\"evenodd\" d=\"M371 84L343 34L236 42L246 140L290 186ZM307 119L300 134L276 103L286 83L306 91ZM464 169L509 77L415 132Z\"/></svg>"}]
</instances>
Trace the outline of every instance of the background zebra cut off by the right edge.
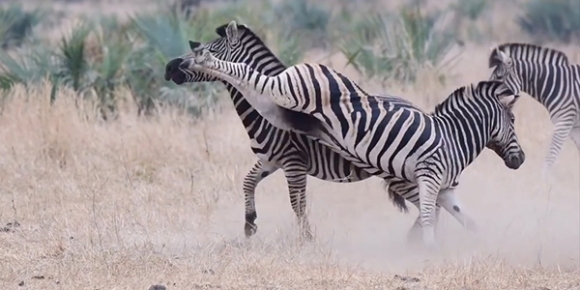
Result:
<instances>
[{"instance_id":1,"label":"background zebra cut off by the right edge","mask_svg":"<svg viewBox=\"0 0 580 290\"><path fill-rule=\"evenodd\" d=\"M542 172L549 174L564 142L570 138L580 152L580 66L561 51L524 43L505 43L492 50L490 80L505 82L519 94L532 96L550 114L552 140Z\"/></svg>"}]
</instances>

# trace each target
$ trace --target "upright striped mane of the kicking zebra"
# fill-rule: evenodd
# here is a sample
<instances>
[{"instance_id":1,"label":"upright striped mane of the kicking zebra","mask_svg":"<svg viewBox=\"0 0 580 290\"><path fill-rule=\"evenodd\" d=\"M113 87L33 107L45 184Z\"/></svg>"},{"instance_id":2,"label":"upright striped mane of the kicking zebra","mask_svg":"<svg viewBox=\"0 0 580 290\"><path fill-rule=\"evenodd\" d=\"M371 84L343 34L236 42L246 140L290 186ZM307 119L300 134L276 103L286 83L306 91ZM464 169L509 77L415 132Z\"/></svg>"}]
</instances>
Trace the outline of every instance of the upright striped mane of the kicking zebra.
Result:
<instances>
[{"instance_id":1,"label":"upright striped mane of the kicking zebra","mask_svg":"<svg viewBox=\"0 0 580 290\"><path fill-rule=\"evenodd\" d=\"M432 115L445 114L455 110L457 103L471 102L474 98L495 98L496 95L513 95L500 81L481 81L455 89L443 102L437 104Z\"/></svg>"}]
</instances>

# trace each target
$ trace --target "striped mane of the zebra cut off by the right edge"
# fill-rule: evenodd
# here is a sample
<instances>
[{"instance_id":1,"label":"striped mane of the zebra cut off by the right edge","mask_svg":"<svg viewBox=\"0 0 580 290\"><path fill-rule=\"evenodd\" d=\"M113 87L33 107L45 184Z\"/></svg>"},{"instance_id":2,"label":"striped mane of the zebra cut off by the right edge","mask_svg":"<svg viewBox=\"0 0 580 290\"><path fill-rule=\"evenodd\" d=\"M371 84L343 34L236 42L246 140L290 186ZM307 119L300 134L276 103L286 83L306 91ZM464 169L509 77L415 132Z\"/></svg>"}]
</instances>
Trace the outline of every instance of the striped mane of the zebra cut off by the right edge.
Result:
<instances>
[{"instance_id":1,"label":"striped mane of the zebra cut off by the right edge","mask_svg":"<svg viewBox=\"0 0 580 290\"><path fill-rule=\"evenodd\" d=\"M530 43L509 42L496 47L507 53L511 58L525 61L544 60L551 64L567 65L568 56L557 49L543 47ZM492 68L501 64L498 52L493 49L488 59L488 67Z\"/></svg>"}]
</instances>

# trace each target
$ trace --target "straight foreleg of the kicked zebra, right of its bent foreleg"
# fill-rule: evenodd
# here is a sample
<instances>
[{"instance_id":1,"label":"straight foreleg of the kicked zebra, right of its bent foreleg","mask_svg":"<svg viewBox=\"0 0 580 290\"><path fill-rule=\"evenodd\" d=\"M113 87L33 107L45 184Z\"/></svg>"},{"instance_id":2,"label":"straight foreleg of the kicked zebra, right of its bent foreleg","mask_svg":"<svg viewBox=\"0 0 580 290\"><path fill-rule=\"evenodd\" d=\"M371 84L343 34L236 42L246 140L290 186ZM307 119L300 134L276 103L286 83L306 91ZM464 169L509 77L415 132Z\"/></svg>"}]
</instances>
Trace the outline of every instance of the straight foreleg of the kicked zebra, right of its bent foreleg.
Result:
<instances>
[{"instance_id":1,"label":"straight foreleg of the kicked zebra, right of its bent foreleg","mask_svg":"<svg viewBox=\"0 0 580 290\"><path fill-rule=\"evenodd\" d=\"M310 241L313 238L313 234L306 214L306 164L300 162L286 165L284 167L284 174L288 182L290 204L296 213L301 235L304 239Z\"/></svg>"}]
</instances>

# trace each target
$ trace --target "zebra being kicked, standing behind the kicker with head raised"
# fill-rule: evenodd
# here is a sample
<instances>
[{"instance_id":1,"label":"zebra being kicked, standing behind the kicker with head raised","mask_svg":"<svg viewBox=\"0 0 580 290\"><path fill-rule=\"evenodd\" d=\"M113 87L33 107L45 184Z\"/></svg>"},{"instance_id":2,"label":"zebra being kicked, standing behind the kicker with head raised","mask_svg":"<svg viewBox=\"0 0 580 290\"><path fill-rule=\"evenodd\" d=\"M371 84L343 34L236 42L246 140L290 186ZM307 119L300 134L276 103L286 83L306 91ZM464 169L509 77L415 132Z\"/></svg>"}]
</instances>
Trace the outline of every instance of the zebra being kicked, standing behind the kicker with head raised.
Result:
<instances>
[{"instance_id":1,"label":"zebra being kicked, standing behind the kicker with head raised","mask_svg":"<svg viewBox=\"0 0 580 290\"><path fill-rule=\"evenodd\" d=\"M216 28L216 32L220 36L219 38L203 45L199 42L190 41L190 48L192 50L208 48L213 54L222 60L247 63L252 68L266 75L274 76L286 69L286 66L284 66L278 60L278 58L270 51L270 49L263 43L263 41L246 25L236 24L235 21L232 21L228 24L224 24ZM228 35L230 37L228 37ZM185 74L178 68L178 65L181 63L181 61L181 58L176 58L170 60L167 63L165 71L166 80L172 80L179 85L185 82L219 81L219 79L211 75L203 74L200 72ZM276 167L277 164L282 164L280 167L282 167L285 171L290 171L290 176L299 177L299 180L297 181L294 181L295 179L288 180L289 185L293 183L295 184L294 188L297 189L295 191L292 189L290 190L291 200L300 200L300 205L303 207L305 206L304 196L306 187L306 174L310 174L322 180L338 182L354 182L358 180L364 180L370 176L370 174L366 173L366 171L361 171L359 168L355 167L356 170L353 172L353 174L350 175L350 178L346 178L348 173L347 170L349 169L347 166L350 164L349 161L346 161L344 158L342 158L334 151L331 151L326 146L306 138L305 135L293 133L290 131L283 131L276 128L275 126L270 125L270 123L267 120L264 120L262 116L260 116L258 112L256 112L254 108L244 99L242 93L236 90L229 83L223 83L226 85L227 90L230 92L230 97L234 102L234 107L242 119L242 123L246 127L246 131L252 142L252 150L254 153L258 152L258 149L254 148L259 148L259 152L262 154L258 155L258 157L262 160L265 159L268 164L273 164L273 170L278 169L278 167ZM411 102L403 98L389 95L382 97L402 106L416 108ZM256 136L264 137L257 139ZM277 140L290 140L291 142L276 144L275 146L277 147L273 147L274 145L272 142ZM272 151L272 148L276 150ZM282 152L286 153L281 154ZM259 168L259 166L263 166L262 162L263 161L259 160L253 169L256 167ZM290 166L292 164L298 164L299 166ZM336 167L334 164L343 164L343 166ZM250 173L248 173L244 179L246 212L246 223L244 231L247 237L254 234L257 230L257 226L254 224L254 220L256 219L254 190L257 186L257 183L260 181L260 179L258 179L259 177L259 174L250 171ZM410 186L409 184L400 181L392 181L386 184L386 187L390 200L402 212L409 211L405 205L405 199L419 208L419 192L416 186L412 184ZM294 194L294 192L297 194L299 193L300 197L298 197L297 194ZM294 202L292 202L292 207L294 208L296 215L300 220L301 214L304 212L303 207L300 208ZM437 216L439 216L439 210L440 206L437 205ZM409 231L408 240L412 241L414 238L416 238L419 228L420 220L417 218L413 224L413 227Z\"/></svg>"}]
</instances>

